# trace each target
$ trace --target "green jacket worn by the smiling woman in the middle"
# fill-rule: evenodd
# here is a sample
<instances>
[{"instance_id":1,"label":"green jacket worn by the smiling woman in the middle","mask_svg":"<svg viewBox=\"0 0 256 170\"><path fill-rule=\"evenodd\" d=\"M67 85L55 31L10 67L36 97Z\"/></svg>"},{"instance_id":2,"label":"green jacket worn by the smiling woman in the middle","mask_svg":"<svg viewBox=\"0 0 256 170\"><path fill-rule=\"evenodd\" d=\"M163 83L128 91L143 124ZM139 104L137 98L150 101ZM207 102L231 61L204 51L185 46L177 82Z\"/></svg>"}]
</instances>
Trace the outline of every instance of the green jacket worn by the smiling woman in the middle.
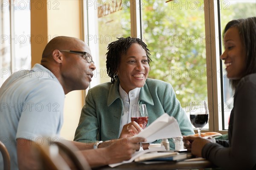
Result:
<instances>
[{"instance_id":1,"label":"green jacket worn by the smiling woman in the middle","mask_svg":"<svg viewBox=\"0 0 256 170\"><path fill-rule=\"evenodd\" d=\"M122 99L118 89L119 79L114 84L103 83L88 91L76 129L75 141L95 142L119 138ZM146 104L148 125L163 113L168 113L177 119L182 135L194 134L192 125L169 83L147 79L140 90L139 103ZM159 142L160 140L154 143Z\"/></svg>"}]
</instances>

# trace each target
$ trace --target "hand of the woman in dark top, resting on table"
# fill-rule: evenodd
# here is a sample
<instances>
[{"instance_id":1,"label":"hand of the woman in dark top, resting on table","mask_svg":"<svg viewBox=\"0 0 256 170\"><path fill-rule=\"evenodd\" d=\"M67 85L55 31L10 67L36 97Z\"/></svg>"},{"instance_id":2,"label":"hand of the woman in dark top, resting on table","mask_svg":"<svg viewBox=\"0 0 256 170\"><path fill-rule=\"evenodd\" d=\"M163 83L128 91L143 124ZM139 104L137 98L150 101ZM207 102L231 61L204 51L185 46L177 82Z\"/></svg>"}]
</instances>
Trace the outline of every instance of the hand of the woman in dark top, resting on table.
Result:
<instances>
[{"instance_id":1,"label":"hand of the woman in dark top, resting on table","mask_svg":"<svg viewBox=\"0 0 256 170\"><path fill-rule=\"evenodd\" d=\"M195 136L183 136L184 146L195 156L202 157L202 149L205 144L211 142L208 139Z\"/></svg>"}]
</instances>

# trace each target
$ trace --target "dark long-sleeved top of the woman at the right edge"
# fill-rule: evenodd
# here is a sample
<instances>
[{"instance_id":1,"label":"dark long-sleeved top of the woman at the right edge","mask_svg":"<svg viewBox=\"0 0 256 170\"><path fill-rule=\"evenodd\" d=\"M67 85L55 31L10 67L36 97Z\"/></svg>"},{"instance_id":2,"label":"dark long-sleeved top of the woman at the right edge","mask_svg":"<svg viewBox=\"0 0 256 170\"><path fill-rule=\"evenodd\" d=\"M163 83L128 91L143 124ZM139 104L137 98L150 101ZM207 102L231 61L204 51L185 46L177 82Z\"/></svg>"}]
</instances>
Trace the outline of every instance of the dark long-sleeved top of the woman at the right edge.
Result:
<instances>
[{"instance_id":1,"label":"dark long-sleeved top of the woman at the right edge","mask_svg":"<svg viewBox=\"0 0 256 170\"><path fill-rule=\"evenodd\" d=\"M202 156L224 169L250 170L256 164L255 80L239 83L234 97L233 110L230 147L209 143L204 146Z\"/></svg>"}]
</instances>

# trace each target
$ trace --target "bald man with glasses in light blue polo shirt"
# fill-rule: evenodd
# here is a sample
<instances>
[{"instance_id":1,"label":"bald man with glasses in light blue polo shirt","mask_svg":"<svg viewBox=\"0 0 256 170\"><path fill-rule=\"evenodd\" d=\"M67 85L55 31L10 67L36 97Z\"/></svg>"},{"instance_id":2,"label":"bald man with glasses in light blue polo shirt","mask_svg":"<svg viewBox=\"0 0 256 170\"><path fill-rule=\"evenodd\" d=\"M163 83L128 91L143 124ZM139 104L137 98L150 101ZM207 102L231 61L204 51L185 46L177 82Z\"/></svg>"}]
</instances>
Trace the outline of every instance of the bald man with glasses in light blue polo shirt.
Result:
<instances>
[{"instance_id":1,"label":"bald man with glasses in light blue polo shirt","mask_svg":"<svg viewBox=\"0 0 256 170\"><path fill-rule=\"evenodd\" d=\"M12 170L39 168L32 142L59 139L65 94L88 88L95 69L88 45L73 37L55 37L46 45L41 64L16 72L3 83L0 88L0 139L9 151ZM73 144L90 166L95 167L130 159L138 148L134 141ZM99 144L102 148L96 149ZM93 147L94 150L88 150ZM2 157L0 164L3 165Z\"/></svg>"}]
</instances>

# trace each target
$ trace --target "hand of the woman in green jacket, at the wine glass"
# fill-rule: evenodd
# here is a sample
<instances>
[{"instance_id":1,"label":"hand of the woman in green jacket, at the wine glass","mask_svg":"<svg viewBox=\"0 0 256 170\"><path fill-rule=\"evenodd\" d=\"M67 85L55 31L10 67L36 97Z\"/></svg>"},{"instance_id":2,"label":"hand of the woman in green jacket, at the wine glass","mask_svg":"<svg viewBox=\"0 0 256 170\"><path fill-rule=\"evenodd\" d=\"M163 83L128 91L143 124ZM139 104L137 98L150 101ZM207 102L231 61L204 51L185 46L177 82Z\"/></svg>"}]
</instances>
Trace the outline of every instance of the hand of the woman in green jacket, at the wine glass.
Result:
<instances>
[{"instance_id":1,"label":"hand of the woman in green jacket, at the wine glass","mask_svg":"<svg viewBox=\"0 0 256 170\"><path fill-rule=\"evenodd\" d=\"M125 137L131 137L138 133L140 133L143 130L143 125L138 124L137 122L131 122L123 126L122 132L119 136L119 138L125 138Z\"/></svg>"}]
</instances>

